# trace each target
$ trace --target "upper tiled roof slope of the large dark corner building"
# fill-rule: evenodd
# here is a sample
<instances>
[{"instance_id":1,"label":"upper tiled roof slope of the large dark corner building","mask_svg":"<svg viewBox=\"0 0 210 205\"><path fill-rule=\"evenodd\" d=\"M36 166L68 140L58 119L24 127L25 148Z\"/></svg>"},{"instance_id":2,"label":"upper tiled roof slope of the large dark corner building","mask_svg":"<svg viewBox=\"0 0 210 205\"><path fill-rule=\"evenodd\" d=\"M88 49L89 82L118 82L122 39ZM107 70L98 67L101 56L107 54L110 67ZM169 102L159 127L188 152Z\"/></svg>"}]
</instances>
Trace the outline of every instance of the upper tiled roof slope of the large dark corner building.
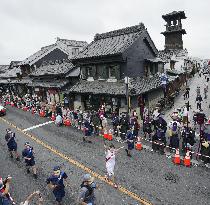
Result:
<instances>
[{"instance_id":1,"label":"upper tiled roof slope of the large dark corner building","mask_svg":"<svg viewBox=\"0 0 210 205\"><path fill-rule=\"evenodd\" d=\"M141 35L145 34L144 24L127 27L107 33L96 34L94 41L90 43L74 59L83 59L107 55L115 55L124 52ZM154 47L151 45L152 48Z\"/></svg>"}]
</instances>

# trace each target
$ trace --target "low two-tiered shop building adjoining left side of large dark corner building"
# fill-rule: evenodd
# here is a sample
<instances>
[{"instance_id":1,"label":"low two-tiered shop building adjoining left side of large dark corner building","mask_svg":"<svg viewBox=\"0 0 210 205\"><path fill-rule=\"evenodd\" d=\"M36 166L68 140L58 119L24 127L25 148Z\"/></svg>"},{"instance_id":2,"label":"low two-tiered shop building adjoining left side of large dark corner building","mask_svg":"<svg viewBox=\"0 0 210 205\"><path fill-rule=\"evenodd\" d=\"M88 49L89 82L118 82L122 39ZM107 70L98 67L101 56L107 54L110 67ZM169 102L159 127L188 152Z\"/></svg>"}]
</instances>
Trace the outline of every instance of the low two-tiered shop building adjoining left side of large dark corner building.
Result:
<instances>
[{"instance_id":1,"label":"low two-tiered shop building adjoining left side of large dark corner building","mask_svg":"<svg viewBox=\"0 0 210 205\"><path fill-rule=\"evenodd\" d=\"M43 62L30 74L33 79L28 84L31 94L36 94L49 104L62 102L65 89L78 80L75 69L68 59Z\"/></svg>"}]
</instances>

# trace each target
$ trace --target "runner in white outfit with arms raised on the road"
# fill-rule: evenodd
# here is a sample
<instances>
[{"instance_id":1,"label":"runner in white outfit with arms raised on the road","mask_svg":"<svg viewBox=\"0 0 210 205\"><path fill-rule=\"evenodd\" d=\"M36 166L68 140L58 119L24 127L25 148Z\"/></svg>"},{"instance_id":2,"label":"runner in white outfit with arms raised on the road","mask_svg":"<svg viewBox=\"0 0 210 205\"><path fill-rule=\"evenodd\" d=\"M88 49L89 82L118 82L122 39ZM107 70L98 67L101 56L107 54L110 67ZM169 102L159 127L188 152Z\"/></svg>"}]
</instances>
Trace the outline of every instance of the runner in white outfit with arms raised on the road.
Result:
<instances>
[{"instance_id":1,"label":"runner in white outfit with arms raised on the road","mask_svg":"<svg viewBox=\"0 0 210 205\"><path fill-rule=\"evenodd\" d=\"M107 145L104 145L105 148L105 155L106 155L106 171L107 175L105 175L107 180L112 180L114 183L114 187L118 188L117 184L115 183L114 178L114 167L115 167L115 154L123 147L120 147L118 149L115 149L115 146L111 144L109 147Z\"/></svg>"}]
</instances>

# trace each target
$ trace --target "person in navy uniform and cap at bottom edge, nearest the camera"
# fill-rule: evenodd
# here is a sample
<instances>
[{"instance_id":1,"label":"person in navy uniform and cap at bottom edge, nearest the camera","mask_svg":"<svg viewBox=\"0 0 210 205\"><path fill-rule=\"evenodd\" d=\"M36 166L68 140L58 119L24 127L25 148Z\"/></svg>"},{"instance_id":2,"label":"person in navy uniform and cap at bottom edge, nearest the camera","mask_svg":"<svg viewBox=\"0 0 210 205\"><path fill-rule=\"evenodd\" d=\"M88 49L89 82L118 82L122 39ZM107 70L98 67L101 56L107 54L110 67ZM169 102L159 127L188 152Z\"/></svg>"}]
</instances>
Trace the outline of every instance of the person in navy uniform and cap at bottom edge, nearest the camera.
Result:
<instances>
[{"instance_id":1,"label":"person in navy uniform and cap at bottom edge, nearest the camera","mask_svg":"<svg viewBox=\"0 0 210 205\"><path fill-rule=\"evenodd\" d=\"M67 179L67 177L67 174L61 171L59 166L55 166L53 174L46 180L48 187L53 190L58 205L61 204L62 199L65 196L64 179Z\"/></svg>"}]
</instances>

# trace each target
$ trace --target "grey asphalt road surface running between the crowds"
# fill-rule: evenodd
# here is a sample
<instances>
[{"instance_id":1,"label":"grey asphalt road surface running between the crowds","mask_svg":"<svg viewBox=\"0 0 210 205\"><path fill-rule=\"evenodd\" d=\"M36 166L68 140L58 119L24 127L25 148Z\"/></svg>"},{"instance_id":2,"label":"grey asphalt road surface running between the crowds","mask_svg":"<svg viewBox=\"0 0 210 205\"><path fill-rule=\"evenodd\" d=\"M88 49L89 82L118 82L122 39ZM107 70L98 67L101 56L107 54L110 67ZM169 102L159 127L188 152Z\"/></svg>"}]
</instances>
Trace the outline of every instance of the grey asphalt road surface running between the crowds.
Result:
<instances>
[{"instance_id":1,"label":"grey asphalt road surface running between the crowds","mask_svg":"<svg viewBox=\"0 0 210 205\"><path fill-rule=\"evenodd\" d=\"M3 117L21 129L49 121L46 118L33 116L17 108L7 107L7 115ZM10 127L0 119L0 176L13 176L11 192L17 202L23 200L34 190L41 190L46 205L53 205L54 198L46 188L45 180L55 165L61 165L69 176L69 184L64 200L65 205L76 204L79 187L84 170L69 163L43 145L31 140L24 133L11 127L18 139L18 151L29 141L35 150L39 178L33 179L26 174L23 161L16 162L8 157L5 146L5 129ZM105 174L105 156L103 140L93 137L92 144L82 142L82 132L74 128L56 127L53 123L27 131L47 143L59 152L84 164L94 172ZM116 147L122 146L114 142ZM115 173L117 182L155 205L209 205L210 204L210 172L206 167L175 166L171 159L149 150L134 151L128 158L124 150L117 155ZM100 190L96 191L98 205L137 205L141 204L129 195L114 189L112 186L96 179Z\"/></svg>"}]
</instances>

